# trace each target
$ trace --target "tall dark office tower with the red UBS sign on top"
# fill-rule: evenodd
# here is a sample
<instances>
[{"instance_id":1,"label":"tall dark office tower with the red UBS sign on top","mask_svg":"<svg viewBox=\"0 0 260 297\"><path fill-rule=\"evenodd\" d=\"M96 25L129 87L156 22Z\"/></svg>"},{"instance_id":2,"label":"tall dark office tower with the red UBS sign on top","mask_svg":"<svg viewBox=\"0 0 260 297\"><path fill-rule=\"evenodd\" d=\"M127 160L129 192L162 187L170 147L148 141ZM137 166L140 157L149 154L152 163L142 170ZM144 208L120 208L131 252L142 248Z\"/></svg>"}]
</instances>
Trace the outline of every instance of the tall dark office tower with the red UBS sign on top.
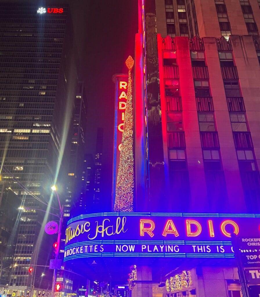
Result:
<instances>
[{"instance_id":1,"label":"tall dark office tower with the red UBS sign on top","mask_svg":"<svg viewBox=\"0 0 260 297\"><path fill-rule=\"evenodd\" d=\"M68 6L9 2L1 3L0 14L1 175L23 206L9 292L26 296L32 287L33 294L51 289L48 270L33 266L29 274L28 268L48 265L49 242L55 241L43 236L40 244L37 236L50 187L56 178L64 184L68 172L67 162L60 161L68 156L64 144L75 96L75 49Z\"/></svg>"}]
</instances>

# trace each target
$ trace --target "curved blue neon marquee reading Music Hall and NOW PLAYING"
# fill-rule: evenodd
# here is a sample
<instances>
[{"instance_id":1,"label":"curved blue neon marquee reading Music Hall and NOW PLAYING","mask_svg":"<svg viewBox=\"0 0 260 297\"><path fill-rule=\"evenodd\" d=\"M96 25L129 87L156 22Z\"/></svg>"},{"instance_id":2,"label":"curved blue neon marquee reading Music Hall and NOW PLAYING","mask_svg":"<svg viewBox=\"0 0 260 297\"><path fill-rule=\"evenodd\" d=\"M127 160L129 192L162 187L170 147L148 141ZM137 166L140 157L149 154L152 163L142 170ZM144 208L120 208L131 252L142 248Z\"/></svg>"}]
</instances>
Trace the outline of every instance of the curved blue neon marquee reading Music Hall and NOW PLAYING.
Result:
<instances>
[{"instance_id":1,"label":"curved blue neon marquee reading Music Hall and NOW PLAYING","mask_svg":"<svg viewBox=\"0 0 260 297\"><path fill-rule=\"evenodd\" d=\"M84 257L234 258L231 236L258 236L259 226L260 214L83 214L68 221L64 261Z\"/></svg>"}]
</instances>

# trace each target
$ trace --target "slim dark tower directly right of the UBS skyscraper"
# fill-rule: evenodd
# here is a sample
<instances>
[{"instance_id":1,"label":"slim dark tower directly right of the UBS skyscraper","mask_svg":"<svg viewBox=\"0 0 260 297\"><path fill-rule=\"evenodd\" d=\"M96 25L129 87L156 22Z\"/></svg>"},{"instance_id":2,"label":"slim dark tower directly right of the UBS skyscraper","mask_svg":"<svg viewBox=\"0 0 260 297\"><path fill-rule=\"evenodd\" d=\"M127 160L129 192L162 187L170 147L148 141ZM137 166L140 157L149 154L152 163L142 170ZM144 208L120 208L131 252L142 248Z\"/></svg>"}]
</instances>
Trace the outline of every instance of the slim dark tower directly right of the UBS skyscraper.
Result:
<instances>
[{"instance_id":1,"label":"slim dark tower directly right of the UBS skyscraper","mask_svg":"<svg viewBox=\"0 0 260 297\"><path fill-rule=\"evenodd\" d=\"M67 198L64 204L64 217L66 217L66 219L70 217L72 205L75 204L81 196L81 184L83 179L81 166L86 151L86 107L85 87L84 83L81 81L78 82L74 100Z\"/></svg>"}]
</instances>

